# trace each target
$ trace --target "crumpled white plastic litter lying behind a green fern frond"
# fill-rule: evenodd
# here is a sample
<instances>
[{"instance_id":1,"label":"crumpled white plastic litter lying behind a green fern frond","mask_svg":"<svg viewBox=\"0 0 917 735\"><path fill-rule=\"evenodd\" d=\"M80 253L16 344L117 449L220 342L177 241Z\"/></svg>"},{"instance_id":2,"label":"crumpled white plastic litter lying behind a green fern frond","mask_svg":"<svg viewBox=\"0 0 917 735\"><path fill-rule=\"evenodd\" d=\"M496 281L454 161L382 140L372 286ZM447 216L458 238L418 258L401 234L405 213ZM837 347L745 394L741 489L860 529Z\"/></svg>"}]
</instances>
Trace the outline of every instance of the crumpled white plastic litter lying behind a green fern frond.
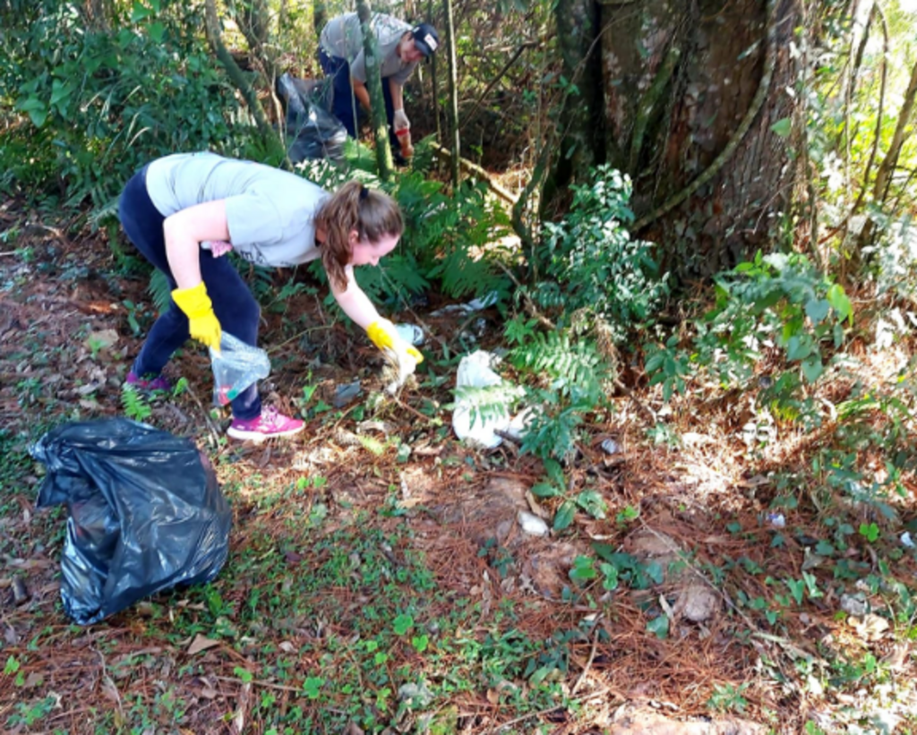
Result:
<instances>
[{"instance_id":1,"label":"crumpled white plastic litter lying behind a green fern frond","mask_svg":"<svg viewBox=\"0 0 917 735\"><path fill-rule=\"evenodd\" d=\"M519 389L510 386L499 375L493 372L491 366L496 358L485 350L461 358L458 363L458 388L490 388L496 385L506 385L510 391ZM452 428L459 439L474 446L484 449L493 449L503 443L503 437L497 431L508 432L513 424L513 417L509 411L501 416L481 415L477 411L481 405L488 401L476 396L460 396L456 401L455 411L452 411Z\"/></svg>"}]
</instances>

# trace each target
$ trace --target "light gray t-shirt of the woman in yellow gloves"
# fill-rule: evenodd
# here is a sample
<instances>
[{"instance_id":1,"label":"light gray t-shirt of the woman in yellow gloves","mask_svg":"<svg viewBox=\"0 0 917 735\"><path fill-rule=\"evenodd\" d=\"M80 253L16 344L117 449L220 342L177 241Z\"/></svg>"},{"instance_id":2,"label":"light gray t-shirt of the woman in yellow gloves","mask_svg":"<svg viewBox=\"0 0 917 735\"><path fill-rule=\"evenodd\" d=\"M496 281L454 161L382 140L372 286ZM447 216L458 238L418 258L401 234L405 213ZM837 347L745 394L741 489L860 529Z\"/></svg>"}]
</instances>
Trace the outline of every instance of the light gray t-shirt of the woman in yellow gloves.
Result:
<instances>
[{"instance_id":1,"label":"light gray t-shirt of the woman in yellow gloves","mask_svg":"<svg viewBox=\"0 0 917 735\"><path fill-rule=\"evenodd\" d=\"M147 192L166 217L226 200L229 242L257 265L283 268L321 256L315 215L330 194L288 171L215 153L176 153L149 164Z\"/></svg>"}]
</instances>

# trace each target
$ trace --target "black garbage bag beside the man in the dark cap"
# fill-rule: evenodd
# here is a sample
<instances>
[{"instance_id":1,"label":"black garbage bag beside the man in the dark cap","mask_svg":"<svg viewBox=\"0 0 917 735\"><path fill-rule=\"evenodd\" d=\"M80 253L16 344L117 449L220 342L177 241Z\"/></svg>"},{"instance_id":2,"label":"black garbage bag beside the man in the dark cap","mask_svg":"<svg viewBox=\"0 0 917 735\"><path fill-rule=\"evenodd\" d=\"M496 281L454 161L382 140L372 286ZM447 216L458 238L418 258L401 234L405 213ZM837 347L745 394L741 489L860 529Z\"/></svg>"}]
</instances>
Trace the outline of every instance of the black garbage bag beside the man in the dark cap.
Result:
<instances>
[{"instance_id":1,"label":"black garbage bag beside the man in the dark cap","mask_svg":"<svg viewBox=\"0 0 917 735\"><path fill-rule=\"evenodd\" d=\"M277 79L277 94L286 108L287 136L293 144L287 156L293 163L344 156L347 128L332 115L328 80L293 79L284 73Z\"/></svg>"}]
</instances>

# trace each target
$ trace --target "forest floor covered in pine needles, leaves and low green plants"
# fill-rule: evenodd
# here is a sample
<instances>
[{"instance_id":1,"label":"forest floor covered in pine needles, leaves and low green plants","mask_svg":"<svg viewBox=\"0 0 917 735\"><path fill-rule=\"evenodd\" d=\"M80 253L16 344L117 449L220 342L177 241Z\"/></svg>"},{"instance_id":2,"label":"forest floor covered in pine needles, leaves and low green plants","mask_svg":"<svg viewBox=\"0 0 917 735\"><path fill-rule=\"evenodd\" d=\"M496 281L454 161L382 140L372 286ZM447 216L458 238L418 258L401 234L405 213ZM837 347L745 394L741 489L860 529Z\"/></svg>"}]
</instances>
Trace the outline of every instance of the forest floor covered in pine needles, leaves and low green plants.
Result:
<instances>
[{"instance_id":1,"label":"forest floor covered in pine needles, leaves and low green plants","mask_svg":"<svg viewBox=\"0 0 917 735\"><path fill-rule=\"evenodd\" d=\"M0 220L0 730L914 731L906 505L894 532L861 535L867 511L828 513L786 487L781 470L818 433L756 454L741 408L671 410L637 386L585 427L568 467L607 517L526 533L520 511L550 523L554 510L531 492L539 464L512 443L458 442L457 359L430 348L437 335L458 355L498 345L500 318L431 316L437 303L396 315L435 333L398 400L378 400L376 351L329 319L322 291L266 308L262 393L308 421L285 441L227 441L208 359L186 347L171 375L187 389L149 399L146 421L212 460L233 512L229 560L208 585L73 625L59 592L66 513L36 510L43 467L28 446L63 422L124 415L148 280L103 236L29 224L15 203ZM360 395L335 408L355 379ZM775 510L778 497L796 501ZM616 588L608 568L584 571L602 549Z\"/></svg>"}]
</instances>

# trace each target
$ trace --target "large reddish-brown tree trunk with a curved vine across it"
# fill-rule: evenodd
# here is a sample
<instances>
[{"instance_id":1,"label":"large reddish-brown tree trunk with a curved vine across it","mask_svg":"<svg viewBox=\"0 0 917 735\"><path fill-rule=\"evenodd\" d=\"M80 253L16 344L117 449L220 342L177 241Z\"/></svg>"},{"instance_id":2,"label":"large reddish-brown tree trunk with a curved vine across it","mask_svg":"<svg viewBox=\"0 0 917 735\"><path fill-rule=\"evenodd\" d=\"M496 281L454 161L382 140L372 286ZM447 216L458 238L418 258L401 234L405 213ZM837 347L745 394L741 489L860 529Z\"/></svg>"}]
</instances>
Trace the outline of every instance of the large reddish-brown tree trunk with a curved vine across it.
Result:
<instances>
[{"instance_id":1,"label":"large reddish-brown tree trunk with a curved vine across it","mask_svg":"<svg viewBox=\"0 0 917 735\"><path fill-rule=\"evenodd\" d=\"M798 1L602 0L606 159L682 277L746 258L789 212Z\"/></svg>"}]
</instances>

